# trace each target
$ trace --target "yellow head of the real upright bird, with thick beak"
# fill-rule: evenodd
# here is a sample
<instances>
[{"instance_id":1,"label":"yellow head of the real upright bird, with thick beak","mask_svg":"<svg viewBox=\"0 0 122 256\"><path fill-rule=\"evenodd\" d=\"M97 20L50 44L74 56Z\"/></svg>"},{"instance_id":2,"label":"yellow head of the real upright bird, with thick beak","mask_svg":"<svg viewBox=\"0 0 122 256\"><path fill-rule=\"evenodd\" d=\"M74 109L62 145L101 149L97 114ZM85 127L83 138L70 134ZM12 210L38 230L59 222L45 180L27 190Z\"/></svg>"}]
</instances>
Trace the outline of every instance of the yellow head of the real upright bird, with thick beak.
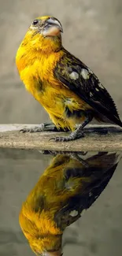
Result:
<instances>
[{"instance_id":1,"label":"yellow head of the real upright bird, with thick beak","mask_svg":"<svg viewBox=\"0 0 122 256\"><path fill-rule=\"evenodd\" d=\"M61 49L61 23L54 17L38 17L33 20L28 28L23 45L28 45L31 50L57 51Z\"/></svg>"}]
</instances>

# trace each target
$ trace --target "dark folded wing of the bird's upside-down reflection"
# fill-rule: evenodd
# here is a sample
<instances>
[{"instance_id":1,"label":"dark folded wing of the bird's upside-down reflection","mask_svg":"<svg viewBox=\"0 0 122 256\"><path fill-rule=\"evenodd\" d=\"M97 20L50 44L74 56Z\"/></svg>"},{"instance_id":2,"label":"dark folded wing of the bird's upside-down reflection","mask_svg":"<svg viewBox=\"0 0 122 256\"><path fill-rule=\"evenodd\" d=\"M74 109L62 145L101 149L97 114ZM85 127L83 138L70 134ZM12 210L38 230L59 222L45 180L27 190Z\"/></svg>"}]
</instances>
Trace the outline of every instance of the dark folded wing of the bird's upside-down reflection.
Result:
<instances>
[{"instance_id":1,"label":"dark folded wing of the bird's upside-down reflection","mask_svg":"<svg viewBox=\"0 0 122 256\"><path fill-rule=\"evenodd\" d=\"M68 225L78 220L79 217L82 217L83 210L90 208L91 205L97 200L99 195L102 194L102 191L105 189L109 183L109 180L113 176L116 166L117 163L113 165L106 173L105 170L98 167L97 169L86 169L86 175L88 173L88 175L95 176L96 173L96 179L91 179L91 181L87 183L87 187L81 187L79 195L69 197L67 202L65 202L65 206L55 214L54 221L56 221L58 228L61 228L63 231ZM97 178L98 173L99 177Z\"/></svg>"}]
</instances>

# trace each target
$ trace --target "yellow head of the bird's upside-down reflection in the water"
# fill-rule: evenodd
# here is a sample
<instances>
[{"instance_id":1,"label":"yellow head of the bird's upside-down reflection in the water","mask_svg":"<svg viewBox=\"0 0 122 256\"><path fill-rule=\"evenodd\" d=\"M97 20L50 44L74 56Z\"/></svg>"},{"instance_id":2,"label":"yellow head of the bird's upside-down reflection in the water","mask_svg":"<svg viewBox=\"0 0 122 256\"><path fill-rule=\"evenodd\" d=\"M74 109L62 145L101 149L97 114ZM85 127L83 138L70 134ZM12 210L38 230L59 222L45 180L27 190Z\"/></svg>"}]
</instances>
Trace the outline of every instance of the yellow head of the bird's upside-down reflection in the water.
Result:
<instances>
[{"instance_id":1,"label":"yellow head of the bird's upside-down reflection in the water","mask_svg":"<svg viewBox=\"0 0 122 256\"><path fill-rule=\"evenodd\" d=\"M62 236L48 236L45 238L32 239L29 241L31 250L39 256L62 256Z\"/></svg>"}]
</instances>

